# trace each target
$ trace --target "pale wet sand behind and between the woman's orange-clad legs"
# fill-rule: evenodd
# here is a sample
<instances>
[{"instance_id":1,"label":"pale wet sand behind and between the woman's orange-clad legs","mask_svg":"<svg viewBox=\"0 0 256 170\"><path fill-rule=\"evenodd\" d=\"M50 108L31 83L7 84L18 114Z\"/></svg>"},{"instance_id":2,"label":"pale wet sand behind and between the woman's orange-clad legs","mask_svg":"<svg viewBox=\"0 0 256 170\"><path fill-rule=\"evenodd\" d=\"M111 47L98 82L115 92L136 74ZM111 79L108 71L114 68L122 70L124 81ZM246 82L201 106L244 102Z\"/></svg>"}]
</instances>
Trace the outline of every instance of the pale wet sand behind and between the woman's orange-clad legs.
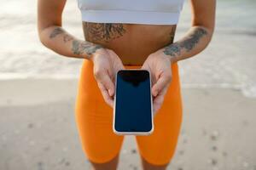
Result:
<instances>
[{"instance_id":1,"label":"pale wet sand behind and between the woman's orange-clad legs","mask_svg":"<svg viewBox=\"0 0 256 170\"><path fill-rule=\"evenodd\" d=\"M0 82L0 169L89 169L74 121L77 80ZM68 90L67 90L68 89ZM183 125L168 169L256 169L256 99L230 88L183 88ZM119 169L142 169L126 136Z\"/></svg>"}]
</instances>

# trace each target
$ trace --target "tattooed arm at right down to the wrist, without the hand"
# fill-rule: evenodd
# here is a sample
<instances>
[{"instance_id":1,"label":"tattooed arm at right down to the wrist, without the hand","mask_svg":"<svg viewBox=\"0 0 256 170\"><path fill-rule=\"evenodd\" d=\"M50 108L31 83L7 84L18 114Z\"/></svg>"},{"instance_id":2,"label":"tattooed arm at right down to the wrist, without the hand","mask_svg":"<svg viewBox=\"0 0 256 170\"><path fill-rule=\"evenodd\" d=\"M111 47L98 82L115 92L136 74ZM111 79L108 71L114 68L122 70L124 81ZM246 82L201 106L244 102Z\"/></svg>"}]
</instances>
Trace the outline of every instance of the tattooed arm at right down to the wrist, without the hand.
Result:
<instances>
[{"instance_id":1,"label":"tattooed arm at right down to the wrist, without the hand","mask_svg":"<svg viewBox=\"0 0 256 170\"><path fill-rule=\"evenodd\" d=\"M187 59L200 53L212 39L215 25L215 0L190 0L192 26L177 42L161 48L172 62Z\"/></svg>"}]
</instances>

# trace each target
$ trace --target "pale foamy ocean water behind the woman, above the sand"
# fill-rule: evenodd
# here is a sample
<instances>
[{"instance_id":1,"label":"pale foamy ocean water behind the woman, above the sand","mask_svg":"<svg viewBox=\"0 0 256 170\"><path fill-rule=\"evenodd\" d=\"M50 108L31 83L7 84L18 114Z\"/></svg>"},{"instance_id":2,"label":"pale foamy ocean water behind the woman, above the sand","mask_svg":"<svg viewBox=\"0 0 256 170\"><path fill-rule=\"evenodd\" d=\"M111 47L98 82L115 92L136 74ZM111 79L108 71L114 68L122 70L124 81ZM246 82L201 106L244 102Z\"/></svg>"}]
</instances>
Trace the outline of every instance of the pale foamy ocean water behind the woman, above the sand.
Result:
<instances>
[{"instance_id":1,"label":"pale foamy ocean water behind the woman, above the sand","mask_svg":"<svg viewBox=\"0 0 256 170\"><path fill-rule=\"evenodd\" d=\"M0 0L0 80L15 78L79 78L81 59L45 48L38 39L37 1ZM256 1L217 3L212 42L201 53L178 62L183 88L236 88L256 97ZM175 40L190 26L186 2ZM76 0L67 0L63 26L83 38Z\"/></svg>"}]
</instances>

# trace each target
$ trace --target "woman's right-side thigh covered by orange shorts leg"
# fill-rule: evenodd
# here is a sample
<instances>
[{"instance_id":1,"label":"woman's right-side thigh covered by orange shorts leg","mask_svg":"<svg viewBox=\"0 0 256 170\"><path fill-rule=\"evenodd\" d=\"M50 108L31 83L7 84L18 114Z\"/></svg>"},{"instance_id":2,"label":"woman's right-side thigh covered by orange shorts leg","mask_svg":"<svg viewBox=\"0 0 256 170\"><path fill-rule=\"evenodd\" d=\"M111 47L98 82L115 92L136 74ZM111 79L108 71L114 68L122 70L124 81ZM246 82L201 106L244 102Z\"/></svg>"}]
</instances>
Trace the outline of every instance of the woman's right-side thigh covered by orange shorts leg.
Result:
<instances>
[{"instance_id":1,"label":"woman's right-side thigh covered by orange shorts leg","mask_svg":"<svg viewBox=\"0 0 256 170\"><path fill-rule=\"evenodd\" d=\"M182 122L182 96L178 65L172 65L172 82L164 103L154 116L154 132L136 136L137 147L143 159L153 165L166 165L175 152Z\"/></svg>"}]
</instances>

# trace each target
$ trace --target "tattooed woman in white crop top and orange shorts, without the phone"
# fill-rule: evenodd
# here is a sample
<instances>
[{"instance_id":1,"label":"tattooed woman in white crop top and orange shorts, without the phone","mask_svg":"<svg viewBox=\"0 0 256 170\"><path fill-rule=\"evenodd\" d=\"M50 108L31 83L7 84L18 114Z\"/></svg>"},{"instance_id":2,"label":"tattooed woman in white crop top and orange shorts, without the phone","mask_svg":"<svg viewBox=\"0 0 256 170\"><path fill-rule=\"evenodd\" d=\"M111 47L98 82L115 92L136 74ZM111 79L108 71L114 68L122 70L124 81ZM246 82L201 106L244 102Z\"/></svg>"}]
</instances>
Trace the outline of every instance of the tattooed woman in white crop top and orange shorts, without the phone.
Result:
<instances>
[{"instance_id":1,"label":"tattooed woman in white crop top and orange shorts, without the phone","mask_svg":"<svg viewBox=\"0 0 256 170\"><path fill-rule=\"evenodd\" d=\"M177 145L182 98L177 61L200 53L212 38L215 0L190 0L192 26L173 42L183 0L79 0L84 38L61 27L66 0L38 0L38 34L56 53L83 60L76 103L79 137L94 169L116 169L124 136L113 133L114 75L150 71L154 133L136 136L143 169L166 169Z\"/></svg>"}]
</instances>

